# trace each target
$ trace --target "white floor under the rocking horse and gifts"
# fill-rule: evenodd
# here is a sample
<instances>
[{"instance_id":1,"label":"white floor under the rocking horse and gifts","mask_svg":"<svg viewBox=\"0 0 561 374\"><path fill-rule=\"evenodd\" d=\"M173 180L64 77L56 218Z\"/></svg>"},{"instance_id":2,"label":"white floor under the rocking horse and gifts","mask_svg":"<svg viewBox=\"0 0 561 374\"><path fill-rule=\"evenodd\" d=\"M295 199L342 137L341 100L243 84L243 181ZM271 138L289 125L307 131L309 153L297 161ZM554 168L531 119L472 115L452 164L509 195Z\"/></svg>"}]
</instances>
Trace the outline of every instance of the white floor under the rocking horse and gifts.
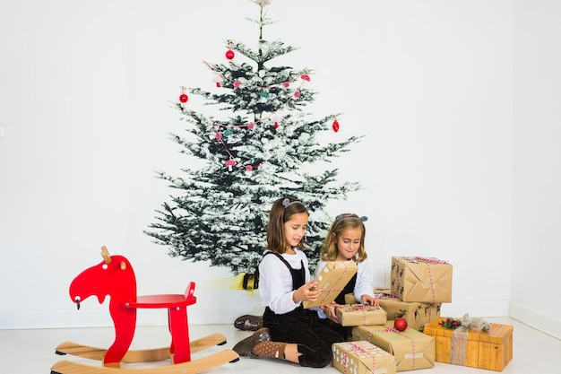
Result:
<instances>
[{"instance_id":1,"label":"white floor under the rocking horse and gifts","mask_svg":"<svg viewBox=\"0 0 561 374\"><path fill-rule=\"evenodd\" d=\"M557 374L561 373L561 340L543 334L530 326L510 318L488 318L489 322L514 326L514 359L502 372L505 374ZM210 353L231 349L239 340L251 334L237 330L232 325L190 326L191 339L203 337L212 333L220 333L227 337L227 344L211 347L202 352L195 352L192 360L204 357ZM0 354L2 355L2 373L40 374L50 373L51 366L60 360L75 360L90 365L99 365L99 361L90 361L70 355L55 354L56 345L63 342L88 344L107 348L113 343L113 327L104 328L72 328L72 329L37 329L37 330L0 330ZM136 330L131 349L160 348L169 344L166 326L141 326ZM157 373L159 365L169 364L168 361L151 364L123 364L124 369L152 369L143 370L144 373ZM128 365L128 366L127 366ZM226 363L204 373L209 374L281 374L281 373L312 373L318 369L301 368L287 361L272 359L240 358L237 362ZM340 373L332 366L320 369L322 373ZM479 370L463 366L436 362L432 369L422 372L433 374L482 374L493 373L492 370Z\"/></svg>"}]
</instances>

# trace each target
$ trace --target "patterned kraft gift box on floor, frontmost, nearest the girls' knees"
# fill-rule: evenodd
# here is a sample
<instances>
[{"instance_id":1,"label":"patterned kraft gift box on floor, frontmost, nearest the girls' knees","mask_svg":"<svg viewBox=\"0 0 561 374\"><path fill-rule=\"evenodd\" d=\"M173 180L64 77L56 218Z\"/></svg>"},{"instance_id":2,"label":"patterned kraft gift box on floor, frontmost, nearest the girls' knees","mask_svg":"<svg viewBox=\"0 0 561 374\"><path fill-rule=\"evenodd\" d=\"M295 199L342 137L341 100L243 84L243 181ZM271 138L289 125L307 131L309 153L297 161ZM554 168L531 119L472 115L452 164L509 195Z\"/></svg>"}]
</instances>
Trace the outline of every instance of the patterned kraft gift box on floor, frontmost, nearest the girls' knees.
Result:
<instances>
[{"instance_id":1,"label":"patterned kraft gift box on floor, frontmost, nearest the girls' knees","mask_svg":"<svg viewBox=\"0 0 561 374\"><path fill-rule=\"evenodd\" d=\"M369 342L332 344L333 366L350 374L395 374L395 357Z\"/></svg>"}]
</instances>

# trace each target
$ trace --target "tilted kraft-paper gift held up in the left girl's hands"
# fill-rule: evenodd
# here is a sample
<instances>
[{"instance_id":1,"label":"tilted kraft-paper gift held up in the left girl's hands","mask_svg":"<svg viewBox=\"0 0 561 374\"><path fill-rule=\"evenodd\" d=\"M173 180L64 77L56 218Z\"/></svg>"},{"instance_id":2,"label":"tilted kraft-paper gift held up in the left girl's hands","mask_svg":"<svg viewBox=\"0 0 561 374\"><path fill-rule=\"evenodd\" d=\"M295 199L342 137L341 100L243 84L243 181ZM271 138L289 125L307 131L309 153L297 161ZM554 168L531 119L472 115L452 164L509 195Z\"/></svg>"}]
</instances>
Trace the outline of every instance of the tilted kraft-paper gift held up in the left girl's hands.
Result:
<instances>
[{"instance_id":1,"label":"tilted kraft-paper gift held up in the left girl's hands","mask_svg":"<svg viewBox=\"0 0 561 374\"><path fill-rule=\"evenodd\" d=\"M321 290L319 297L315 301L304 300L302 305L308 309L331 304L357 272L358 266L354 261L330 261L326 263L315 277L317 288Z\"/></svg>"}]
</instances>

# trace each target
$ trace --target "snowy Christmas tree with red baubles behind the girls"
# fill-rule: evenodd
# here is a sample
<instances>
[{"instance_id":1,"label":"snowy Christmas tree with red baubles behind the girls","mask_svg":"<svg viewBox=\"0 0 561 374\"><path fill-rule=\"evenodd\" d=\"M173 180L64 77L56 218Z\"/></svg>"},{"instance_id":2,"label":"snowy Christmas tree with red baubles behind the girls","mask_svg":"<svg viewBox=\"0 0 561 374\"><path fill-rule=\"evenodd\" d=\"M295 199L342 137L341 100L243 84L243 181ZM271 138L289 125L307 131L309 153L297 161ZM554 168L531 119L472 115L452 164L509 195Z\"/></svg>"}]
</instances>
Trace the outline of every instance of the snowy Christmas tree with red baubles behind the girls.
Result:
<instances>
[{"instance_id":1,"label":"snowy Christmas tree with red baubles behind the girls","mask_svg":"<svg viewBox=\"0 0 561 374\"><path fill-rule=\"evenodd\" d=\"M306 244L313 270L332 221L324 211L326 204L344 200L360 188L355 182L338 182L338 170L324 166L350 151L350 144L361 136L320 142L324 132L339 131L337 114L308 119L303 111L315 100L315 91L306 88L310 70L269 67L273 58L296 48L263 39L263 28L272 23L265 9L270 0L255 4L259 19L250 21L259 26L257 48L226 40L227 64L205 62L216 83L214 91L181 88L174 106L189 124L188 136L171 138L182 153L203 161L203 167L186 168L182 177L158 173L179 194L162 204L156 211L158 222L145 231L167 246L171 257L209 261L211 266L229 266L234 274L245 274L247 287L253 287L253 274L263 256L274 200L296 196L310 211ZM247 62L238 63L240 55ZM190 109L189 94L225 114L219 119Z\"/></svg>"}]
</instances>

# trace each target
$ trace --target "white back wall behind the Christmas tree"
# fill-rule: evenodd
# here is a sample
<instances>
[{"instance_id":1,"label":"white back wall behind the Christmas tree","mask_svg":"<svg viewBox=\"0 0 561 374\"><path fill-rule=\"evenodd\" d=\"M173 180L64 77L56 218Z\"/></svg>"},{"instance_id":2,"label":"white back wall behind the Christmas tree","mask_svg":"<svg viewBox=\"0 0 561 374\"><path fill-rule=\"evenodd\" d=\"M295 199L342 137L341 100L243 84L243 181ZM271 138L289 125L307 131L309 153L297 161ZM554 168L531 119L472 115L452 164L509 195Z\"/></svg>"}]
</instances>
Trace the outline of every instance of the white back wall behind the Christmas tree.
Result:
<instances>
[{"instance_id":1,"label":"white back wall behind the Christmas tree","mask_svg":"<svg viewBox=\"0 0 561 374\"><path fill-rule=\"evenodd\" d=\"M514 10L533 6L519 3L275 0L280 22L265 32L301 47L274 63L315 69L310 111L344 113L333 140L367 134L341 158L341 178L367 190L330 209L369 217L377 282L389 283L392 256L439 257L454 265L444 315L507 316L516 303L558 326L558 300L514 299L531 286L548 296L542 268L518 275L536 232L519 238L512 226L533 196L513 199L513 160L525 157L513 146L527 135L513 129L533 131L513 117L513 96L526 100L514 82L529 73L514 75ZM196 282L192 324L260 312L258 294L231 289L228 269L170 258L142 233L170 193L154 170L177 174L186 162L168 140L184 126L170 102L181 85L211 84L202 60L222 62L225 39L255 43L246 17L257 11L246 0L0 4L11 35L0 39L0 328L110 326L107 305L77 312L67 296L101 245L132 261L140 293ZM139 318L165 323L158 312Z\"/></svg>"}]
</instances>

